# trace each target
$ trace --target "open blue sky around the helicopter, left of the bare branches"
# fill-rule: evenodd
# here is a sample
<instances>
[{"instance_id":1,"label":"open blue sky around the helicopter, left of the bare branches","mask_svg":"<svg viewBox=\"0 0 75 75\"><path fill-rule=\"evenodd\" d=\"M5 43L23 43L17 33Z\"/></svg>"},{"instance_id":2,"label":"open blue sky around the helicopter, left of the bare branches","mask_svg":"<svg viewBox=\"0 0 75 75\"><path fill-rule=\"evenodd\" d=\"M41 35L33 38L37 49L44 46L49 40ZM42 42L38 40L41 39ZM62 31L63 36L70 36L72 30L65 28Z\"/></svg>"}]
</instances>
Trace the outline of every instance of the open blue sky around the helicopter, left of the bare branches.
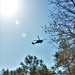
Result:
<instances>
[{"instance_id":1,"label":"open blue sky around the helicopter, left of the bare branches","mask_svg":"<svg viewBox=\"0 0 75 75\"><path fill-rule=\"evenodd\" d=\"M0 70L16 69L29 54L43 59L50 67L56 51L41 26L49 24L49 2L47 0L18 0L19 8L12 17L0 18ZM37 39L46 39L42 44L32 45Z\"/></svg>"}]
</instances>

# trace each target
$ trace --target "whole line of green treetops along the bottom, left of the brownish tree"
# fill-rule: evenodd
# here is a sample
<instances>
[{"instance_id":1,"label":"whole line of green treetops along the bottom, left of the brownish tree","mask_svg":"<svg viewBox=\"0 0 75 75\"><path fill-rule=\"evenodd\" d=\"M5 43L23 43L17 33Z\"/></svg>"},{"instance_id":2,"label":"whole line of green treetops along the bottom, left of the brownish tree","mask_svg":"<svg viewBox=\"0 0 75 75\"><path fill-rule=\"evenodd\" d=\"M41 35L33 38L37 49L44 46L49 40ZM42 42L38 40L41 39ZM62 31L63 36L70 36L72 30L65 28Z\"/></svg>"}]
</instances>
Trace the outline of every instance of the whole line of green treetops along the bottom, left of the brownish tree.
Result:
<instances>
[{"instance_id":1,"label":"whole line of green treetops along the bottom, left of the brownish tree","mask_svg":"<svg viewBox=\"0 0 75 75\"><path fill-rule=\"evenodd\" d=\"M26 56L20 65L16 70L2 70L2 75L52 75L43 61L36 56Z\"/></svg>"}]
</instances>

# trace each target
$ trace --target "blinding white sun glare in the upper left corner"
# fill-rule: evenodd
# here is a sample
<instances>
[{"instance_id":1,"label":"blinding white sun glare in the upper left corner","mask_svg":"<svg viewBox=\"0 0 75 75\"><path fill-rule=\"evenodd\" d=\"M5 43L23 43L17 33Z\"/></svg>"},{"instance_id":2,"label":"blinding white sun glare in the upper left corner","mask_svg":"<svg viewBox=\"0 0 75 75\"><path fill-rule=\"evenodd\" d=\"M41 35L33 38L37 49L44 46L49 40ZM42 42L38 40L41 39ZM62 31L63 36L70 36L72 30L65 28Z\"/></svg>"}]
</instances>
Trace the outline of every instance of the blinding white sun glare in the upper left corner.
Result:
<instances>
[{"instance_id":1,"label":"blinding white sun glare in the upper left corner","mask_svg":"<svg viewBox=\"0 0 75 75\"><path fill-rule=\"evenodd\" d=\"M18 0L0 0L1 16L13 16L18 9Z\"/></svg>"}]
</instances>

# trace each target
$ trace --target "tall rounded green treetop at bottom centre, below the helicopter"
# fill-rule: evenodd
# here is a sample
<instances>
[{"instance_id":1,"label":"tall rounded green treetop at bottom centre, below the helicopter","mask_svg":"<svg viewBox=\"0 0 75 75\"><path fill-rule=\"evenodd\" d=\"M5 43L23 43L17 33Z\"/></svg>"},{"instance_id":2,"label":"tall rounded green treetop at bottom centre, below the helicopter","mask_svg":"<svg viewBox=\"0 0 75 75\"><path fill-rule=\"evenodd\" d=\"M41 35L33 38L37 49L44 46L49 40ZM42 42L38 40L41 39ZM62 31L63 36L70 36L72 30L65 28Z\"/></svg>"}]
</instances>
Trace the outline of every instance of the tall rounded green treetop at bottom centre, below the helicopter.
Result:
<instances>
[{"instance_id":1,"label":"tall rounded green treetop at bottom centre, below the helicopter","mask_svg":"<svg viewBox=\"0 0 75 75\"><path fill-rule=\"evenodd\" d=\"M48 68L41 59L36 56L26 56L24 63L21 62L22 68L30 75L48 75Z\"/></svg>"}]
</instances>

